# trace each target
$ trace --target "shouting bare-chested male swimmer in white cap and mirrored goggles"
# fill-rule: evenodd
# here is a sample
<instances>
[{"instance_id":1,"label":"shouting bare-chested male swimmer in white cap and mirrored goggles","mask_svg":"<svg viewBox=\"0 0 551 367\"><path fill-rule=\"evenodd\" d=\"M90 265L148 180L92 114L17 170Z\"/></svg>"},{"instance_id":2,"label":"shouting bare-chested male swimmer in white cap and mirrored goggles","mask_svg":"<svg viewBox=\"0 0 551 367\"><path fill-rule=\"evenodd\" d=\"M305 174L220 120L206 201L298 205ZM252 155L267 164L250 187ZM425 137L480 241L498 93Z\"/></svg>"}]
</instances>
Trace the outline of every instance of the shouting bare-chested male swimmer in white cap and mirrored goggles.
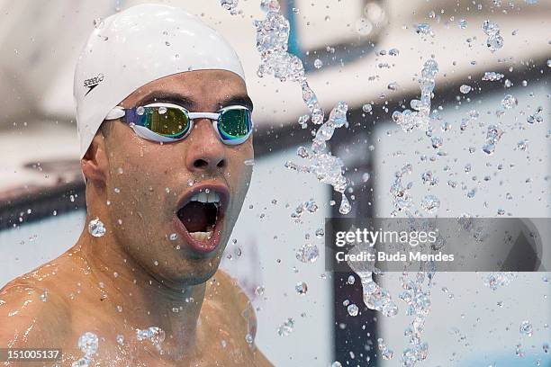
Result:
<instances>
[{"instance_id":1,"label":"shouting bare-chested male swimmer in white cap and mirrored goggles","mask_svg":"<svg viewBox=\"0 0 551 367\"><path fill-rule=\"evenodd\" d=\"M181 8L133 6L95 22L74 96L86 225L0 291L0 348L61 348L63 366L271 366L218 269L254 157L234 49ZM2 365L20 364L56 363Z\"/></svg>"}]
</instances>

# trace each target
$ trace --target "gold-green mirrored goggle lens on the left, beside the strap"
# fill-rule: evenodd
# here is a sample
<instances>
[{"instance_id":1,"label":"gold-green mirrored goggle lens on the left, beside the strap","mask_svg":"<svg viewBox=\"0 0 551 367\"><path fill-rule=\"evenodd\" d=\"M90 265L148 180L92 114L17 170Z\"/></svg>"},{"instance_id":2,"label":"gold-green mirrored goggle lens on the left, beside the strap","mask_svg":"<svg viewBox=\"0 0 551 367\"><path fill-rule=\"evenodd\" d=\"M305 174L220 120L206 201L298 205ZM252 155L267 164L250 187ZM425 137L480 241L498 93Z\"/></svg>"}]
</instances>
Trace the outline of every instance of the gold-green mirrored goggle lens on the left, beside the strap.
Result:
<instances>
[{"instance_id":1,"label":"gold-green mirrored goggle lens on the left, beside the strap","mask_svg":"<svg viewBox=\"0 0 551 367\"><path fill-rule=\"evenodd\" d=\"M136 118L137 125L167 138L181 138L190 128L187 113L173 107L141 107Z\"/></svg>"}]
</instances>

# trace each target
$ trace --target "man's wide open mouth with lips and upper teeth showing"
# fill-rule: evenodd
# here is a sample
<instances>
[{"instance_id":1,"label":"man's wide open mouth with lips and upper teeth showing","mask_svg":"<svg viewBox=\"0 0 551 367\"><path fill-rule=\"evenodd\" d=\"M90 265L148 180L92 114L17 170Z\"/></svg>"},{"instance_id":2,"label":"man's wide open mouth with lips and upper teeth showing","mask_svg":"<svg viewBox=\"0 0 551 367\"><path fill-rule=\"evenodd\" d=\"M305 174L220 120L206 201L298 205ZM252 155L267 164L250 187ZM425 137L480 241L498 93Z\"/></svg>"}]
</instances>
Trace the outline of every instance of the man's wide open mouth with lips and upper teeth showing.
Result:
<instances>
[{"instance_id":1,"label":"man's wide open mouth with lips and upper teeth showing","mask_svg":"<svg viewBox=\"0 0 551 367\"><path fill-rule=\"evenodd\" d=\"M203 185L180 201L176 211L178 227L194 250L210 252L218 246L228 196L224 186Z\"/></svg>"}]
</instances>

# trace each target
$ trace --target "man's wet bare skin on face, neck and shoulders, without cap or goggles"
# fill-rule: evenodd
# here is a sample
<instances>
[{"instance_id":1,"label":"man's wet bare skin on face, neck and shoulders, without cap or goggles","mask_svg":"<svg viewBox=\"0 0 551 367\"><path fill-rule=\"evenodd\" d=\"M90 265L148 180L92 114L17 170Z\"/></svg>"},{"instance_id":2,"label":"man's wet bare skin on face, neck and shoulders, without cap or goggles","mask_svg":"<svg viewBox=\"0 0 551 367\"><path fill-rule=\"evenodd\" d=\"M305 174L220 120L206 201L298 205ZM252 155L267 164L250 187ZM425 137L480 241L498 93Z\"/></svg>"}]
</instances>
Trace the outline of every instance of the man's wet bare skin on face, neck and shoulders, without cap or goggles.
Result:
<instances>
[{"instance_id":1,"label":"man's wet bare skin on face, neck and shoulders, without cap or goggles","mask_svg":"<svg viewBox=\"0 0 551 367\"><path fill-rule=\"evenodd\" d=\"M239 76L196 70L144 85L120 105L163 102L158 95L167 93L193 101L185 105L190 112L216 112L222 101L247 98ZM101 219L106 234L92 237L85 228L66 253L0 291L0 347L60 347L65 366L84 355L77 340L92 332L99 337L92 365L272 365L251 342L257 327L247 296L218 269L248 191L252 166L244 161L254 156L252 137L224 145L212 121L197 119L184 140L159 144L121 121L108 123L81 160L86 223ZM212 251L190 246L176 216L197 188L228 193ZM136 330L148 327L164 330L160 350L137 339Z\"/></svg>"}]
</instances>

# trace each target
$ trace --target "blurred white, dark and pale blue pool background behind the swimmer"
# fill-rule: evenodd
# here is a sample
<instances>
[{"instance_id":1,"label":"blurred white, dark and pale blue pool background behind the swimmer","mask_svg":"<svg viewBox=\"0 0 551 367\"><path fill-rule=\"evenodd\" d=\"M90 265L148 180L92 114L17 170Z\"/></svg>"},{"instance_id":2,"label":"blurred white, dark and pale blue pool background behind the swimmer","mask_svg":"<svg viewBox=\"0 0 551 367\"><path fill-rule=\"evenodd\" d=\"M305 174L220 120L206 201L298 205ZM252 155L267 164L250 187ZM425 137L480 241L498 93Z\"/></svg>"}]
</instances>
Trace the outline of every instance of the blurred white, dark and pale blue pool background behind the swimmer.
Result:
<instances>
[{"instance_id":1,"label":"blurred white, dark and pale blue pool background behind the swimmer","mask_svg":"<svg viewBox=\"0 0 551 367\"><path fill-rule=\"evenodd\" d=\"M0 1L0 287L66 251L82 231L85 186L72 96L77 54L96 18L141 3ZM326 217L340 215L340 195L285 168L288 160L301 163L296 150L310 146L317 127L297 122L308 113L299 85L257 76L253 21L265 17L260 2L239 1L236 15L218 0L156 3L199 15L230 41L245 68L255 103L254 175L222 267L257 308L257 345L277 366L402 365L411 317L398 300L400 274L378 279L400 307L396 317L385 318L365 307L359 282L348 282L353 273L326 272L322 250L312 264L296 258L305 244L322 249L318 229ZM394 173L410 163L404 182L412 184L415 215L550 217L551 2L280 3L291 25L289 52L303 60L326 114L339 101L348 103L348 127L330 140L347 167L348 216L389 217ZM486 45L486 20L499 25L503 38L494 52ZM439 67L431 104L438 111L433 135L442 139L437 148L424 130L404 132L391 117L419 98L420 70L431 57ZM483 80L486 72L499 79ZM516 102L504 105L507 94ZM530 123L535 114L542 121ZM492 124L503 134L488 155L482 147ZM422 180L427 171L438 183ZM427 194L438 197L437 211L422 209ZM294 209L311 199L319 209L295 223ZM548 275L518 273L492 291L484 273L437 273L422 334L429 355L420 364L550 366ZM297 293L297 282L307 284L305 294ZM350 302L357 316L348 313ZM292 331L278 332L289 318ZM524 320L533 335L519 333ZM379 353L378 338L393 350L391 359Z\"/></svg>"}]
</instances>

